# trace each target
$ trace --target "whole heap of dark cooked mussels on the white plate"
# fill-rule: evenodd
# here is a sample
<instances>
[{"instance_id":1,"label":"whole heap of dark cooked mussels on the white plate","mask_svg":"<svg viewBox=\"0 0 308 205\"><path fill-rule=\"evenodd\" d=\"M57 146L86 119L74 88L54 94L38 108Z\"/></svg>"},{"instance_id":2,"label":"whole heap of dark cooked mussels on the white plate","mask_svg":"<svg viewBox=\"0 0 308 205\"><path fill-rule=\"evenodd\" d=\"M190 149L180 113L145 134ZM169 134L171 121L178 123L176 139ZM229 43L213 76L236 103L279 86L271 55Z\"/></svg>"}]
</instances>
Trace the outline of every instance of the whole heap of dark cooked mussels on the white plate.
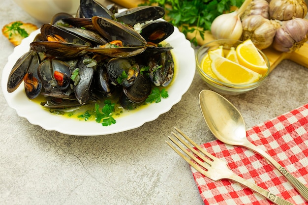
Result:
<instances>
[{"instance_id":1,"label":"whole heap of dark cooked mussels on the white plate","mask_svg":"<svg viewBox=\"0 0 308 205\"><path fill-rule=\"evenodd\" d=\"M119 102L142 103L153 86L167 86L174 74L171 49L160 43L174 27L164 9L140 6L118 12L114 4L80 0L76 16L59 13L42 25L30 51L13 66L7 91L24 81L28 98L68 108L121 93ZM137 26L138 25L138 26ZM138 28L140 32L137 32Z\"/></svg>"}]
</instances>

